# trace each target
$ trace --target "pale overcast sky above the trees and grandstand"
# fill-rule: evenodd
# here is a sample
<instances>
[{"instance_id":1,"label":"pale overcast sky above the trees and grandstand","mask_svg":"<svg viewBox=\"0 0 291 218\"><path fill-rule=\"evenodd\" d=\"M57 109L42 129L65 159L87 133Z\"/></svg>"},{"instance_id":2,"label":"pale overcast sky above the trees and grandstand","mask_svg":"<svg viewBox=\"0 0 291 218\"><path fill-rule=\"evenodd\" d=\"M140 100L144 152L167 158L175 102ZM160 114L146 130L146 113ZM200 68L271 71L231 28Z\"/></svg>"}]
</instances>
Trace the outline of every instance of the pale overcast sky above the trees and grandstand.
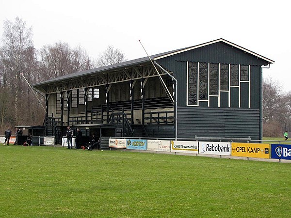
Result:
<instances>
[{"instance_id":1,"label":"pale overcast sky above the trees and grandstand","mask_svg":"<svg viewBox=\"0 0 291 218\"><path fill-rule=\"evenodd\" d=\"M264 77L291 91L287 0L0 0L0 36L16 16L32 27L36 49L66 42L94 59L108 45L128 60L145 57L138 40L152 55L223 38L275 61Z\"/></svg>"}]
</instances>

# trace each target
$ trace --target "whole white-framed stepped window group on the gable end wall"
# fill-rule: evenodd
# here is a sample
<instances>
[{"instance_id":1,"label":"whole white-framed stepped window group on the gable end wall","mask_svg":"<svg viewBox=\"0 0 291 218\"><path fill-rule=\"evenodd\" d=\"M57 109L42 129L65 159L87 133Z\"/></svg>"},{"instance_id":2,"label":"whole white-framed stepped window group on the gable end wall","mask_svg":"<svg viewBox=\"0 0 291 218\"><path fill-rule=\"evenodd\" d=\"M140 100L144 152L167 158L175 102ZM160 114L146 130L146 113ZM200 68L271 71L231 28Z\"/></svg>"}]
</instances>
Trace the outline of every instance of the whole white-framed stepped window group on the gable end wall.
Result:
<instances>
[{"instance_id":1,"label":"whole white-framed stepped window group on the gable end wall","mask_svg":"<svg viewBox=\"0 0 291 218\"><path fill-rule=\"evenodd\" d=\"M250 107L250 65L205 62L187 64L187 105Z\"/></svg>"}]
</instances>

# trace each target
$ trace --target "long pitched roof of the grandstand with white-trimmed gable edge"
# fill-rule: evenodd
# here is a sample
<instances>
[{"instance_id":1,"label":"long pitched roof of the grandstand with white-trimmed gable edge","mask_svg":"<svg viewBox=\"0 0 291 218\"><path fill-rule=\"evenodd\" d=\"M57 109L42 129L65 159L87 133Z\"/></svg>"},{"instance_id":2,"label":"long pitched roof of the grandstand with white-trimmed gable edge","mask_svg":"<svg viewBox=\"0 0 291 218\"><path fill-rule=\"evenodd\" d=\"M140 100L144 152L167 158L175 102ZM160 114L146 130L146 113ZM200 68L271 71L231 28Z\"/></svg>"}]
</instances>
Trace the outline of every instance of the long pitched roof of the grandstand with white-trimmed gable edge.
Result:
<instances>
[{"instance_id":1,"label":"long pitched roof of the grandstand with white-trimmed gable edge","mask_svg":"<svg viewBox=\"0 0 291 218\"><path fill-rule=\"evenodd\" d=\"M155 55L151 55L149 56L151 60L158 60L158 59L162 59L162 58L165 58L165 57L168 57L168 56L171 56L171 55L175 55L175 54L178 54L178 53L181 53L181 52L185 52L185 51L189 51L189 50L193 50L195 48L198 48L198 47L203 47L203 46L208 46L208 45L211 45L211 44L214 44L214 43L218 43L218 42L223 42L223 43L226 43L232 47L236 47L238 49L241 49L243 50L244 52L247 52L249 54L252 54L268 63L274 63L274 61L272 61L271 59L268 59L266 57L263 57L253 51L250 51L244 47L240 47L234 43L231 43L225 39L216 39L216 40L213 40L213 41L210 41L210 42L207 42L207 43L203 43L203 44L199 44L199 45L196 45L196 46L192 46L192 47L185 47L185 48L180 48L180 49L176 49L176 50L172 50L172 51L167 51L167 52L163 52L163 53L160 53L160 54L155 54ZM121 63L117 63L117 64L113 64L113 65L109 65L109 66L103 66L103 67L99 67L99 68L94 68L94 69L91 69L91 70L85 70L85 71L81 71L81 72L76 72L76 73L72 73L72 74L68 74L68 75L64 75L64 76L61 76L61 77L58 77L58 78L52 78L52 79L49 79L49 80L46 80L46 81L43 81L43 82L39 82L39 83L36 83L33 85L33 87L37 87L37 86L42 86L42 85L45 85L45 84L49 84L49 83L55 83L57 81L61 81L61 80L65 80L65 79L72 79L72 78L79 78L80 76L88 76L88 75L91 75L91 74L95 74L95 73L98 73L98 72L104 72L104 71L109 71L109 70L115 70L115 69L118 69L118 68L122 68L122 67L126 67L126 66L133 66L133 65L137 65L137 64L141 64L141 63L145 63L145 62L149 62L150 60L148 59L148 57L143 57L143 58L139 58L139 59L134 59L134 60L130 60L130 61L126 61L126 62L121 62Z\"/></svg>"}]
</instances>

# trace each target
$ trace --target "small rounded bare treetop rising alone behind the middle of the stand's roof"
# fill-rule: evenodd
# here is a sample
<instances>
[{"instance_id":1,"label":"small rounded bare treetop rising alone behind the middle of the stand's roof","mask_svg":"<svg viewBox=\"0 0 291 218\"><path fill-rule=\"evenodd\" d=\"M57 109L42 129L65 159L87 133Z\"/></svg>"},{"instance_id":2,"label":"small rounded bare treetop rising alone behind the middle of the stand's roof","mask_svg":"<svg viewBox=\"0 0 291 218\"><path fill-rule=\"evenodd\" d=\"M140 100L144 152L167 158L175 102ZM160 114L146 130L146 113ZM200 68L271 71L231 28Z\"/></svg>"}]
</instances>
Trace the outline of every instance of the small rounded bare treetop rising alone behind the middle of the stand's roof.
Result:
<instances>
[{"instance_id":1,"label":"small rounded bare treetop rising alone behind the middle of the stand's roof","mask_svg":"<svg viewBox=\"0 0 291 218\"><path fill-rule=\"evenodd\" d=\"M108 66L116 63L125 62L127 59L122 51L113 46L108 46L105 51L101 55L99 55L97 59L97 66Z\"/></svg>"}]
</instances>

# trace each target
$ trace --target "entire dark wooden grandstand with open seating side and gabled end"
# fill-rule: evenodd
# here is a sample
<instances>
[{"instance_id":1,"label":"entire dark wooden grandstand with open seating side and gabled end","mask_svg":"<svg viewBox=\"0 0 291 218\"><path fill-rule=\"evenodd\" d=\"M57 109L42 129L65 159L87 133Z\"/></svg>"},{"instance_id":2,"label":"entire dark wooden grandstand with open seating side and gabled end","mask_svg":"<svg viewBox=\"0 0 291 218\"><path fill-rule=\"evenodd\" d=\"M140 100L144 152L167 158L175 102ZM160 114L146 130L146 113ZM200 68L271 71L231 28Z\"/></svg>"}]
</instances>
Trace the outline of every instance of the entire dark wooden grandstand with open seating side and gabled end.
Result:
<instances>
[{"instance_id":1,"label":"entire dark wooden grandstand with open seating side and gabled end","mask_svg":"<svg viewBox=\"0 0 291 218\"><path fill-rule=\"evenodd\" d=\"M262 67L272 63L217 39L52 78L33 88L46 95L44 124L52 134L64 135L67 125L110 124L115 137L260 140Z\"/></svg>"}]
</instances>

